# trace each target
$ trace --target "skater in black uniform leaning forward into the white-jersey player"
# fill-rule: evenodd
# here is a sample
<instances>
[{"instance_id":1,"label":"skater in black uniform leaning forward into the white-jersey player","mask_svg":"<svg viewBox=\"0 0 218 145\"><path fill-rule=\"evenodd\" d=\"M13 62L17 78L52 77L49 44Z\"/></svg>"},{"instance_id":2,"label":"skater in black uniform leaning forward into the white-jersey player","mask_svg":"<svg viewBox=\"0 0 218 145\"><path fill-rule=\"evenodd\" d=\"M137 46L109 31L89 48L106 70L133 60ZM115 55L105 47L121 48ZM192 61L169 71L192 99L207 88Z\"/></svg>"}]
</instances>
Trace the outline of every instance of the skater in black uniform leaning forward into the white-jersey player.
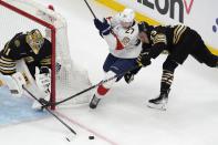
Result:
<instances>
[{"instance_id":1,"label":"skater in black uniform leaning forward into the white-jersey player","mask_svg":"<svg viewBox=\"0 0 218 145\"><path fill-rule=\"evenodd\" d=\"M139 23L139 38L142 42L152 44L141 53L138 63L147 65L150 59L156 59L164 50L169 52L163 64L160 94L148 101L149 107L166 110L168 94L174 80L174 71L190 54L198 62L210 68L218 68L218 56L212 54L205 45L201 37L185 25L153 27L146 22Z\"/></svg>"}]
</instances>

